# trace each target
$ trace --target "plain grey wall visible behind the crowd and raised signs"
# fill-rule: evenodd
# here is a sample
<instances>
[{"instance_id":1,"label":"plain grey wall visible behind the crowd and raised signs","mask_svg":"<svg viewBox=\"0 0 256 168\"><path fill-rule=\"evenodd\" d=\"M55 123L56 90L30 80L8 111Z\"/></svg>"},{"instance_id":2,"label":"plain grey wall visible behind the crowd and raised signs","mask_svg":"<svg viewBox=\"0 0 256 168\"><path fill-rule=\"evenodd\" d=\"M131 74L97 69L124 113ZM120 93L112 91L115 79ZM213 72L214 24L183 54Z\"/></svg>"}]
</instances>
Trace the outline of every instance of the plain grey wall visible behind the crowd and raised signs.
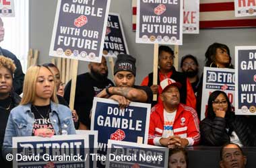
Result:
<instances>
[{"instance_id":1,"label":"plain grey wall visible behind the crowd and raised signs","mask_svg":"<svg viewBox=\"0 0 256 168\"><path fill-rule=\"evenodd\" d=\"M57 0L30 0L30 48L40 50L39 62L49 62L49 47ZM131 0L112 0L110 12L120 13L131 55L137 58L136 84L152 71L153 45L136 44L132 31ZM256 28L200 30L197 35L183 35L183 46L179 47L180 58L193 54L199 59L201 69L204 65L204 53L207 46L214 42L228 45L234 63L234 46L256 46ZM171 46L174 48L173 46ZM78 73L87 71L87 62L79 62ZM110 75L109 75L110 76Z\"/></svg>"}]
</instances>

